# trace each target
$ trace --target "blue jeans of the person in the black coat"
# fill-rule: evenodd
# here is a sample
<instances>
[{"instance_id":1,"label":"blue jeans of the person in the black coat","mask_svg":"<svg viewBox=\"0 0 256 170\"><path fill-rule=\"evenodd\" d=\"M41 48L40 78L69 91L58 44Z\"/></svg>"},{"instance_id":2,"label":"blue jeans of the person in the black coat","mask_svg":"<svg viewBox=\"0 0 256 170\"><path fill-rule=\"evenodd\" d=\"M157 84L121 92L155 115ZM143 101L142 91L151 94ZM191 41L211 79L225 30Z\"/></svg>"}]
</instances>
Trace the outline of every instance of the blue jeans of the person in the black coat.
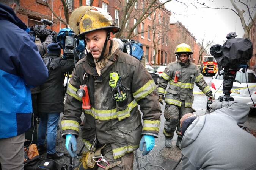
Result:
<instances>
[{"instance_id":1,"label":"blue jeans of the person in the black coat","mask_svg":"<svg viewBox=\"0 0 256 170\"><path fill-rule=\"evenodd\" d=\"M42 113L40 112L40 123L37 133L37 145L44 145L47 141L47 153L55 153L56 133L60 113ZM47 136L46 136L47 133Z\"/></svg>"}]
</instances>

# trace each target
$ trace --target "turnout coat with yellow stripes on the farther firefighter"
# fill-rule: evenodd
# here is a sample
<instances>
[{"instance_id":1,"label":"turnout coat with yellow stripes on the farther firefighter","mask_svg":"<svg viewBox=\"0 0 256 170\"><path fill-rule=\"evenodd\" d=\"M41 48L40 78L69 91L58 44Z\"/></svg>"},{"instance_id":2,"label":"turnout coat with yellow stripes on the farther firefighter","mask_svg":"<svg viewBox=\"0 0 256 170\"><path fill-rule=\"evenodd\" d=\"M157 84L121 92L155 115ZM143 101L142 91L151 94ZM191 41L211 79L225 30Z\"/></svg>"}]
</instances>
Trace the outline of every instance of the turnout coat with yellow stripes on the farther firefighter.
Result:
<instances>
[{"instance_id":1,"label":"turnout coat with yellow stripes on the farther firefighter","mask_svg":"<svg viewBox=\"0 0 256 170\"><path fill-rule=\"evenodd\" d=\"M179 71L180 77L177 83L174 83L176 70ZM166 90L167 85L170 87ZM185 107L192 107L194 96L194 83L203 91L204 94L212 92L210 87L203 79L203 75L194 63L181 64L180 60L167 65L160 77L158 93L165 94L166 104L177 105L181 107L182 100L185 101Z\"/></svg>"}]
</instances>

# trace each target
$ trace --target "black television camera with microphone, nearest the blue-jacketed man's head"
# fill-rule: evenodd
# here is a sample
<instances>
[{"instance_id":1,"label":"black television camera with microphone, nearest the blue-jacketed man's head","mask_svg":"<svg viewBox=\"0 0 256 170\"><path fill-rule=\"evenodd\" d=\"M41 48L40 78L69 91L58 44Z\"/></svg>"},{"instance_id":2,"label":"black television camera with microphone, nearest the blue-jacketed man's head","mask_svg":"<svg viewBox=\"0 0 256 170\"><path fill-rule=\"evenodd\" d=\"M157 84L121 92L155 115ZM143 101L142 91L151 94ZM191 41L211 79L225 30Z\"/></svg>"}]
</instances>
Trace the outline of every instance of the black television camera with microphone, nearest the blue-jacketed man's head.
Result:
<instances>
[{"instance_id":1,"label":"black television camera with microphone, nearest the blue-jacketed man's head","mask_svg":"<svg viewBox=\"0 0 256 170\"><path fill-rule=\"evenodd\" d=\"M56 42L55 40L56 32L50 29L46 29L47 25L52 26L53 22L43 18L40 21L43 23L42 25L34 25L30 27L30 34L34 38L34 42L35 43L44 42L44 40L49 34L52 34L53 42Z\"/></svg>"}]
</instances>

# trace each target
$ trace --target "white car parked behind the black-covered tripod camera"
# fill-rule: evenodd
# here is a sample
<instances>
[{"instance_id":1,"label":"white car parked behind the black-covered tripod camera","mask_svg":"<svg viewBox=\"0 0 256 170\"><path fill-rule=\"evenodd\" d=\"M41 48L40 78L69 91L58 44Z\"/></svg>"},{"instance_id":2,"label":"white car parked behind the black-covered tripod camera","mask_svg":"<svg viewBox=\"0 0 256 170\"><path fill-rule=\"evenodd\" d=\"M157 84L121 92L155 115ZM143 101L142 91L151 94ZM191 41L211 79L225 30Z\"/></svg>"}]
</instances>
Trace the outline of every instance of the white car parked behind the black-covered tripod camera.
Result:
<instances>
[{"instance_id":1,"label":"white car parked behind the black-covered tripod camera","mask_svg":"<svg viewBox=\"0 0 256 170\"><path fill-rule=\"evenodd\" d=\"M251 97L247 88L247 84ZM247 84L245 79L245 73L243 73L242 71L237 71L236 79L234 80L230 96L234 98L234 101L245 103L250 108L253 108L255 105L256 108L256 74L253 70L250 69L247 70ZM223 96L222 75L220 76L218 75L218 73L216 73L215 76L212 77L210 89L212 90L214 99L218 99L220 96Z\"/></svg>"}]
</instances>

